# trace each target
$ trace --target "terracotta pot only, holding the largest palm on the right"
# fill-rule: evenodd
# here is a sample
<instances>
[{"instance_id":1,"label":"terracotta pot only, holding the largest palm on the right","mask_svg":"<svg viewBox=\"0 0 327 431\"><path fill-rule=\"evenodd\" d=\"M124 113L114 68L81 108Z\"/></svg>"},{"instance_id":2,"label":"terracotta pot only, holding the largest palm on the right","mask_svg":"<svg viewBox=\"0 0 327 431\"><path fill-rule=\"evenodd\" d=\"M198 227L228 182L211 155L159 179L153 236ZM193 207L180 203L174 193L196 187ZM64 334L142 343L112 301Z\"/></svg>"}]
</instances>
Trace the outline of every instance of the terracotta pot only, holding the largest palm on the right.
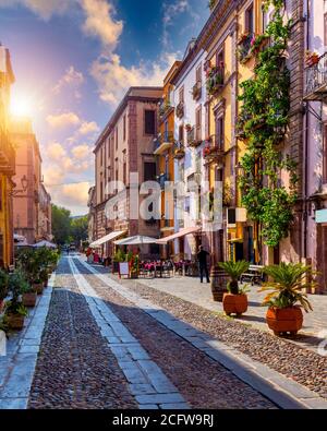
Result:
<instances>
[{"instance_id":1,"label":"terracotta pot only, holding the largest palm on the right","mask_svg":"<svg viewBox=\"0 0 327 431\"><path fill-rule=\"evenodd\" d=\"M275 335L290 333L296 335L303 324L303 314L300 307L287 309L270 308L267 311L266 321Z\"/></svg>"}]
</instances>

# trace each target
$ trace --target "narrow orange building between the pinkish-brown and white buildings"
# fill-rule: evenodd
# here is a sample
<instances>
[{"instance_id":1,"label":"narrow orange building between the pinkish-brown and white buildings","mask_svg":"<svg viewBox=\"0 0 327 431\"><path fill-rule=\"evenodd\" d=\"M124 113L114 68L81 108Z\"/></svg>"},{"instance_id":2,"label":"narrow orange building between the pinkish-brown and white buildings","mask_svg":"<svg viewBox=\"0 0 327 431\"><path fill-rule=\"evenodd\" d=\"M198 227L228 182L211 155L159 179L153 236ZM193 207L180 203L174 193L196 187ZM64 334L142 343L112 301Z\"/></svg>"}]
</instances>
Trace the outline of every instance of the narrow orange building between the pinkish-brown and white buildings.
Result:
<instances>
[{"instance_id":1,"label":"narrow orange building between the pinkish-brown and white buildings","mask_svg":"<svg viewBox=\"0 0 327 431\"><path fill-rule=\"evenodd\" d=\"M158 135L155 141L157 156L158 181L161 187L161 220L160 237L173 234L173 193L165 193L165 182L174 180L174 107L173 107L173 80L181 62L175 61L164 80L162 101L159 107ZM162 248L164 256L173 254L173 242ZM167 255L166 255L167 254Z\"/></svg>"}]
</instances>

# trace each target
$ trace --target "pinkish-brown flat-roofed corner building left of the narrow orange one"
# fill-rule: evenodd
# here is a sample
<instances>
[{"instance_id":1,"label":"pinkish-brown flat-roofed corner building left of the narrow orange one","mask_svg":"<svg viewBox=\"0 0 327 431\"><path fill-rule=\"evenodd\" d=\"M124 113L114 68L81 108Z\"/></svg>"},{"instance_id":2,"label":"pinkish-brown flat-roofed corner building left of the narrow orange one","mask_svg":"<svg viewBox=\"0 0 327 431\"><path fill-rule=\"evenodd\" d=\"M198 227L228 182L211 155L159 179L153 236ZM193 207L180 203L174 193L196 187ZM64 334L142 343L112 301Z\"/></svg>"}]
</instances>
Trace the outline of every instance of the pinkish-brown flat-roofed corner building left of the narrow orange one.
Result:
<instances>
[{"instance_id":1,"label":"pinkish-brown flat-roofed corner building left of the narrow orange one","mask_svg":"<svg viewBox=\"0 0 327 431\"><path fill-rule=\"evenodd\" d=\"M140 195L140 184L157 181L154 140L161 97L161 87L131 87L96 142L96 239L114 231L126 236L159 237L158 219L140 216L143 196L138 203L136 201L135 214L130 209L131 196L137 199ZM138 183L131 177L132 172ZM101 244L101 249L104 256L112 255L112 242ZM158 254L156 247L146 249Z\"/></svg>"}]
</instances>

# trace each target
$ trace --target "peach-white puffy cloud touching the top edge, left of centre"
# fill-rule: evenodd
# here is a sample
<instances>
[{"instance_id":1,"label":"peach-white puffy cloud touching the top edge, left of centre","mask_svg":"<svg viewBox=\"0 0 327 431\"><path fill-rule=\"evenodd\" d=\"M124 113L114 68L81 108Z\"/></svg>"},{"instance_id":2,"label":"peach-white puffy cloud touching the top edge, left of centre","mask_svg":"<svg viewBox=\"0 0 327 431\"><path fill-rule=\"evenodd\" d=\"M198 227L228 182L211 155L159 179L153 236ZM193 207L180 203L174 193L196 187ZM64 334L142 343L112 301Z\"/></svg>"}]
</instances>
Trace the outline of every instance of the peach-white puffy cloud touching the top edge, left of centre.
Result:
<instances>
[{"instance_id":1,"label":"peach-white puffy cloud touching the top edge, left of centre","mask_svg":"<svg viewBox=\"0 0 327 431\"><path fill-rule=\"evenodd\" d=\"M122 21L114 21L114 10L106 0L81 0L86 14L83 31L86 35L98 37L102 45L113 50L123 29Z\"/></svg>"}]
</instances>

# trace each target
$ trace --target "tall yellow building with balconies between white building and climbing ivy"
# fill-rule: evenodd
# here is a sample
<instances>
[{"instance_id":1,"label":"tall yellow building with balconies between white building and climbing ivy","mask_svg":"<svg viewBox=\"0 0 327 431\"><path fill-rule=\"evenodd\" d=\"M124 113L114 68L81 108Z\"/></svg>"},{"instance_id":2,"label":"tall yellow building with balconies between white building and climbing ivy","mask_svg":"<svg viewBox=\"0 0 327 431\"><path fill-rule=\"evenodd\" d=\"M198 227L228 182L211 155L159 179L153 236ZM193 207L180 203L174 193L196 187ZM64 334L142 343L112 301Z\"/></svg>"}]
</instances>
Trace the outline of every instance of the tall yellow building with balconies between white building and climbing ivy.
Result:
<instances>
[{"instance_id":1,"label":"tall yellow building with balconies between white building and climbing ivy","mask_svg":"<svg viewBox=\"0 0 327 431\"><path fill-rule=\"evenodd\" d=\"M240 84L253 76L251 40L264 26L262 0L217 0L199 40L207 51L208 178L222 181L222 229L210 235L215 261L261 261L258 226L247 220L238 185L245 145L238 135Z\"/></svg>"}]
</instances>

